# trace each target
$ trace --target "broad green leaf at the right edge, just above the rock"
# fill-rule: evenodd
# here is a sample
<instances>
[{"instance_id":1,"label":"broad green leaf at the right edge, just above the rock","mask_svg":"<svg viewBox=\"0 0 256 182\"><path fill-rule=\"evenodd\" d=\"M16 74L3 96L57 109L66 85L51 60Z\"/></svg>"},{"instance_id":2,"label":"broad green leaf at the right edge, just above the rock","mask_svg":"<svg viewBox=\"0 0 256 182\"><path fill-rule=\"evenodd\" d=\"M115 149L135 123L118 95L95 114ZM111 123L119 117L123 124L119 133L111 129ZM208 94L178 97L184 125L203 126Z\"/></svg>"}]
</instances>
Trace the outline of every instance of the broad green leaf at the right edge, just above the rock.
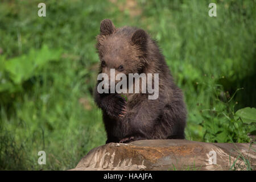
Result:
<instances>
[{"instance_id":1,"label":"broad green leaf at the right edge, just above the rock","mask_svg":"<svg viewBox=\"0 0 256 182\"><path fill-rule=\"evenodd\" d=\"M236 111L236 115L242 119L245 123L255 123L256 122L256 109L254 107L245 107Z\"/></svg>"}]
</instances>

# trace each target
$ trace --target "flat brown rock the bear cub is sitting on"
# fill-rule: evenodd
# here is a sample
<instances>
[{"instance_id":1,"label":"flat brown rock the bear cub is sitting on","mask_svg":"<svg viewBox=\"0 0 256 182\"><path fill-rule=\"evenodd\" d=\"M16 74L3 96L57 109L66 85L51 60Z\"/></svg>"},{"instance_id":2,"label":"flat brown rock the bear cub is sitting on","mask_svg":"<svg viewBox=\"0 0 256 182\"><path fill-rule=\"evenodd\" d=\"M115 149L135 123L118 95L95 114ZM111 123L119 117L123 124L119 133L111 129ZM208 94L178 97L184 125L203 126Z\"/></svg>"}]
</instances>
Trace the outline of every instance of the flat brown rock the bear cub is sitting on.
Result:
<instances>
[{"instance_id":1,"label":"flat brown rock the bear cub is sitting on","mask_svg":"<svg viewBox=\"0 0 256 182\"><path fill-rule=\"evenodd\" d=\"M252 143L203 143L181 139L108 143L91 150L71 170L229 170L232 166L232 169L245 170L246 159L255 170L255 150Z\"/></svg>"}]
</instances>

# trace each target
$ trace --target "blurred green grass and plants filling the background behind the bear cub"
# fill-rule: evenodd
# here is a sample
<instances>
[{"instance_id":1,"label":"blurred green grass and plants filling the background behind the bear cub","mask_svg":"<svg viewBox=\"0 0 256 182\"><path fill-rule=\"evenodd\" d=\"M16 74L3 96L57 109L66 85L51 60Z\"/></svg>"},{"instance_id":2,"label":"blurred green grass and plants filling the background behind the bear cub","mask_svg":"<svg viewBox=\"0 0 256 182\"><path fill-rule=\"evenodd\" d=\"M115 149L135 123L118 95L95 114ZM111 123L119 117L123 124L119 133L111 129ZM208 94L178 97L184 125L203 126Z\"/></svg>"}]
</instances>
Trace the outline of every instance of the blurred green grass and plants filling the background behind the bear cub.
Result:
<instances>
[{"instance_id":1,"label":"blurred green grass and plants filling the background behind the bear cub","mask_svg":"<svg viewBox=\"0 0 256 182\"><path fill-rule=\"evenodd\" d=\"M256 106L255 1L46 0L39 17L40 2L0 2L0 169L74 168L105 143L92 97L104 18L158 40L185 95L187 139L255 135L255 110L240 110ZM210 2L217 17L208 16Z\"/></svg>"}]
</instances>

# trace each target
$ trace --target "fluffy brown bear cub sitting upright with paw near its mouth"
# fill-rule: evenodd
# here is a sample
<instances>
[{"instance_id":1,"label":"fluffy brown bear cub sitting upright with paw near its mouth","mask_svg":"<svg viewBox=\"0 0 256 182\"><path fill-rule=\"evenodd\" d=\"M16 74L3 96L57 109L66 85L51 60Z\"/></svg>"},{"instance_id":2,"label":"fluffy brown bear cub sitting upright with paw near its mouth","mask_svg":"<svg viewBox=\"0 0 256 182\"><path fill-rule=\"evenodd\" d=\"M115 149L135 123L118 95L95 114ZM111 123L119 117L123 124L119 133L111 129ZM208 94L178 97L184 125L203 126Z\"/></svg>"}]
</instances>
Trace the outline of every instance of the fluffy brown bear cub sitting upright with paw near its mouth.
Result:
<instances>
[{"instance_id":1,"label":"fluffy brown bear cub sitting upright with paw near its mouth","mask_svg":"<svg viewBox=\"0 0 256 182\"><path fill-rule=\"evenodd\" d=\"M184 139L187 111L183 94L174 84L156 42L142 29L116 28L111 20L104 19L96 49L101 62L99 73L110 76L110 69L115 69L115 74L127 76L129 73L159 73L158 98L155 100L148 99L150 93L142 92L100 94L97 91L100 81L97 82L94 100L102 109L108 137L106 143Z\"/></svg>"}]
</instances>

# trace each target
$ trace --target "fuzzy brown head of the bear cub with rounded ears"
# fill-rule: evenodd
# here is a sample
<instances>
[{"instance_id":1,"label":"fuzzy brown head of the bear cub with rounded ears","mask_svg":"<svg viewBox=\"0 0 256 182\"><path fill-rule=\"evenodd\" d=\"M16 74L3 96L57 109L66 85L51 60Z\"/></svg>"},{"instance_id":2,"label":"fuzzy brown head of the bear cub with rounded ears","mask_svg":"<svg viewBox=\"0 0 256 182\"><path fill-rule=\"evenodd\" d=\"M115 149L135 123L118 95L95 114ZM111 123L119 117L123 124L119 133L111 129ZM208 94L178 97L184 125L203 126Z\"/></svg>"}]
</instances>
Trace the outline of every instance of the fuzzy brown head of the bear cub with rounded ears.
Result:
<instances>
[{"instance_id":1,"label":"fuzzy brown head of the bear cub with rounded ears","mask_svg":"<svg viewBox=\"0 0 256 182\"><path fill-rule=\"evenodd\" d=\"M111 20L102 20L96 44L101 73L106 73L109 77L110 69L115 69L115 75L141 73L147 64L149 40L149 36L142 29L116 28Z\"/></svg>"}]
</instances>

